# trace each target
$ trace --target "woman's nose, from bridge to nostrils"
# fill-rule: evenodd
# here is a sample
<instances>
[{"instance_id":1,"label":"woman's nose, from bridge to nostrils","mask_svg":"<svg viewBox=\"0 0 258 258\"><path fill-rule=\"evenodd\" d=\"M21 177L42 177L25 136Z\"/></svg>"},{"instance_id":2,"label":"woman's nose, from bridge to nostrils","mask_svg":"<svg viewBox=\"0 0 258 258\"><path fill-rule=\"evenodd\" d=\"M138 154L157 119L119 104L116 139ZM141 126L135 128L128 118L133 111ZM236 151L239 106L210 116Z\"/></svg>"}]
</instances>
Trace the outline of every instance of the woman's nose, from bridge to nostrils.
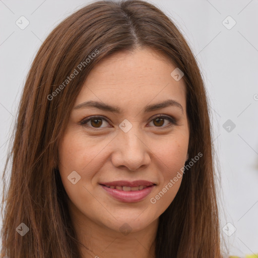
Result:
<instances>
[{"instance_id":1,"label":"woman's nose, from bridge to nostrils","mask_svg":"<svg viewBox=\"0 0 258 258\"><path fill-rule=\"evenodd\" d=\"M121 131L116 137L115 151L111 157L115 167L126 167L134 171L149 166L151 151L146 139L135 128L133 126L127 133Z\"/></svg>"}]
</instances>

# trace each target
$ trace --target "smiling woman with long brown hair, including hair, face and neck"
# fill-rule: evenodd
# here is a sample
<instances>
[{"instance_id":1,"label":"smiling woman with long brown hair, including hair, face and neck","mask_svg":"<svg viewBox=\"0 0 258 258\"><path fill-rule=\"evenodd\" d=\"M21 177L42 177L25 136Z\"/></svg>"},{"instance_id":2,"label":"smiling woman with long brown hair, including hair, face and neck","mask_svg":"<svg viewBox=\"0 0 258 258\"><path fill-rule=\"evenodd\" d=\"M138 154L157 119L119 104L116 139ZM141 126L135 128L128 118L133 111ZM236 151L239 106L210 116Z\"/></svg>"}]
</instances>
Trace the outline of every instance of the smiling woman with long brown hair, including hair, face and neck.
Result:
<instances>
[{"instance_id":1,"label":"smiling woman with long brown hair, including hair, face and neck","mask_svg":"<svg viewBox=\"0 0 258 258\"><path fill-rule=\"evenodd\" d=\"M14 134L6 257L222 257L204 83L153 5L101 1L61 22Z\"/></svg>"}]
</instances>

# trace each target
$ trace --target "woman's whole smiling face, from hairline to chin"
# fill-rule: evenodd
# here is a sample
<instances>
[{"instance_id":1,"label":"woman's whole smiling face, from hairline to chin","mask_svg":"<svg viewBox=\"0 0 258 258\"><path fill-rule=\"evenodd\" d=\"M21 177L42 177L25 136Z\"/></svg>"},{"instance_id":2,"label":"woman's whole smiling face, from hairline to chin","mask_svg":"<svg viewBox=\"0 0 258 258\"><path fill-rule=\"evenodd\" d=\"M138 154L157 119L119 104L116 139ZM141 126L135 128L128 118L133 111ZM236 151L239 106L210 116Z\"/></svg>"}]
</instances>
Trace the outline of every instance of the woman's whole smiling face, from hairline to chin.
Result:
<instances>
[{"instance_id":1,"label":"woman's whole smiling face, from hairline to chin","mask_svg":"<svg viewBox=\"0 0 258 258\"><path fill-rule=\"evenodd\" d=\"M137 49L90 72L58 146L70 211L81 223L136 232L175 198L189 140L185 85L175 69Z\"/></svg>"}]
</instances>

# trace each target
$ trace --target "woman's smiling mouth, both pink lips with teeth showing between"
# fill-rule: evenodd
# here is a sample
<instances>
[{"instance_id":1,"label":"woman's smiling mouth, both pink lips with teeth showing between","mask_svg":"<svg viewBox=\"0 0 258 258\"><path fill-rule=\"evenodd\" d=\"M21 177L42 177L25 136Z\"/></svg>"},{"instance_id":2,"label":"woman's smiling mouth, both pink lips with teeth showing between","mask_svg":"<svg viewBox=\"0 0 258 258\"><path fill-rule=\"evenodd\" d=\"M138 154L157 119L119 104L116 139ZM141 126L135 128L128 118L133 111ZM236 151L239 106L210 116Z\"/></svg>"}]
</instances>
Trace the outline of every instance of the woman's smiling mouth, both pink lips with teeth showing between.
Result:
<instances>
[{"instance_id":1,"label":"woman's smiling mouth, both pink lips with teeth showing between","mask_svg":"<svg viewBox=\"0 0 258 258\"><path fill-rule=\"evenodd\" d=\"M144 200L157 185L154 182L138 181L113 181L99 183L111 197L121 202L139 202Z\"/></svg>"}]
</instances>

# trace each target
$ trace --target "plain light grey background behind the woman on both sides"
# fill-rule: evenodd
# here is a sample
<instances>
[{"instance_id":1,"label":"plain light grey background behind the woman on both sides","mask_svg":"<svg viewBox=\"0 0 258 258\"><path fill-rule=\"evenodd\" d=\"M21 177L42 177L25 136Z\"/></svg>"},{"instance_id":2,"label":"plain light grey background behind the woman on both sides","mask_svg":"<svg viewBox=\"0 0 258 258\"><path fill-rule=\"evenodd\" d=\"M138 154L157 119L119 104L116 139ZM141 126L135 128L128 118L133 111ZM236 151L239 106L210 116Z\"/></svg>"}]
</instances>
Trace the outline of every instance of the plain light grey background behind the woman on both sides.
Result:
<instances>
[{"instance_id":1,"label":"plain light grey background behind the woman on both sides","mask_svg":"<svg viewBox=\"0 0 258 258\"><path fill-rule=\"evenodd\" d=\"M177 24L208 89L221 171L221 227L230 222L236 228L231 236L222 235L231 254L258 253L258 1L148 2ZM88 3L0 0L1 172L10 126L36 51L59 22ZM21 16L30 22L24 30L16 25ZM236 21L231 29L223 25L233 24L228 16ZM231 132L224 129L227 124L223 127L228 119L236 125Z\"/></svg>"}]
</instances>

